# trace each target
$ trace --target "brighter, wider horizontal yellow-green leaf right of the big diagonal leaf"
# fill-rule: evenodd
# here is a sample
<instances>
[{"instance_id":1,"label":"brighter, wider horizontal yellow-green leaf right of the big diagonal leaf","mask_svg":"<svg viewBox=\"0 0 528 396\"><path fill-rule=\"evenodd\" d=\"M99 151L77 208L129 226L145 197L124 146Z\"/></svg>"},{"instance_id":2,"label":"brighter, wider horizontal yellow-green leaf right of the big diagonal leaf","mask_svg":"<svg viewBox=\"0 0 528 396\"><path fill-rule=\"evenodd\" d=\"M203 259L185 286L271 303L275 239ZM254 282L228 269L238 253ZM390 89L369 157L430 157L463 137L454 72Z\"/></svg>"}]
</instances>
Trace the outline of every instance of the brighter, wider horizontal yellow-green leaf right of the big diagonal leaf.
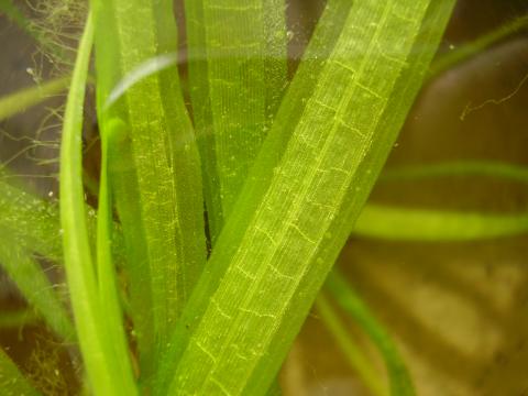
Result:
<instances>
[{"instance_id":1,"label":"brighter, wider horizontal yellow-green leaf right of the big diagonal leaf","mask_svg":"<svg viewBox=\"0 0 528 396\"><path fill-rule=\"evenodd\" d=\"M476 241L528 232L528 213L493 215L366 205L353 234L392 241Z\"/></svg>"}]
</instances>

